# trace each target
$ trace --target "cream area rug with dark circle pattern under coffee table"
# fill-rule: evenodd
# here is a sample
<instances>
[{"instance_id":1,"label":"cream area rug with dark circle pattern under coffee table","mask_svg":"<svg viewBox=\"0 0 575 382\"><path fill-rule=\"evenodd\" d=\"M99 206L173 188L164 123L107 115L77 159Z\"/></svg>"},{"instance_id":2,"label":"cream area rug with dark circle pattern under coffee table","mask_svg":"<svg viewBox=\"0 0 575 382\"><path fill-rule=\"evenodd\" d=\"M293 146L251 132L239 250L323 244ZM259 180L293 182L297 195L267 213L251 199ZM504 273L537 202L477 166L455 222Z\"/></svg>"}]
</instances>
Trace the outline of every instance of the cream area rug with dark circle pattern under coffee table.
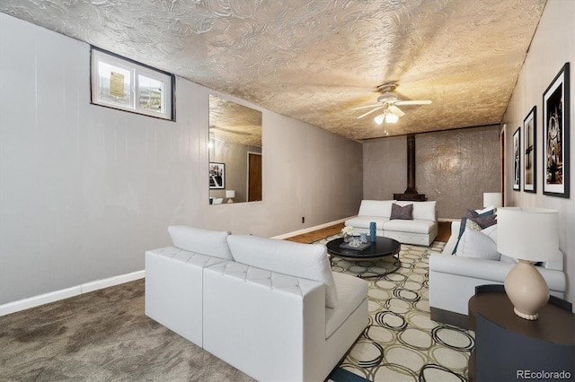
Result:
<instances>
[{"instance_id":1,"label":"cream area rug with dark circle pattern under coffee table","mask_svg":"<svg viewBox=\"0 0 575 382\"><path fill-rule=\"evenodd\" d=\"M341 362L341 369L370 381L467 380L467 361L475 344L473 331L429 317L429 255L441 253L445 244L402 245L401 267L368 280L369 323ZM385 273L385 268L392 266L393 261L385 258L364 262L332 258L333 271L354 275Z\"/></svg>"}]
</instances>

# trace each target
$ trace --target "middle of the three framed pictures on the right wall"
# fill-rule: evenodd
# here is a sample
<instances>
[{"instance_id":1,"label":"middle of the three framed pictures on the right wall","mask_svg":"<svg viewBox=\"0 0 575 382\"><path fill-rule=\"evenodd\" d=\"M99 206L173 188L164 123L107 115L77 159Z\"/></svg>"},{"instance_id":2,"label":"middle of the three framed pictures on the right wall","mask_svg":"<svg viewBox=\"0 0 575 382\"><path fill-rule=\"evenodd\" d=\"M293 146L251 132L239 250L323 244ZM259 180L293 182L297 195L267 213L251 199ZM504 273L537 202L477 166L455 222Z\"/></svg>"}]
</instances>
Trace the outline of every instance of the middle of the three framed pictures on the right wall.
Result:
<instances>
[{"instance_id":1,"label":"middle of the three framed pictures on the right wall","mask_svg":"<svg viewBox=\"0 0 575 382\"><path fill-rule=\"evenodd\" d=\"M536 128L537 107L534 106L523 120L523 191L525 192L536 192L537 187Z\"/></svg>"}]
</instances>

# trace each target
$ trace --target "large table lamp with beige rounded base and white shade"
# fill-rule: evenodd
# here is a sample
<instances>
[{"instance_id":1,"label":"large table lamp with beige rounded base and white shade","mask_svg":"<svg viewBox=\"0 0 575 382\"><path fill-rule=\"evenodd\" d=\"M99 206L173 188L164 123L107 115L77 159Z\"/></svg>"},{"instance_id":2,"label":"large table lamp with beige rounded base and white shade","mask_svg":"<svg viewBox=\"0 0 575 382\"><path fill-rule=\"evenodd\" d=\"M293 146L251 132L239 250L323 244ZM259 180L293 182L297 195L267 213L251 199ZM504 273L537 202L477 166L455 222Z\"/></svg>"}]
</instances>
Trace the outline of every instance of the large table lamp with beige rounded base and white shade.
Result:
<instances>
[{"instance_id":1,"label":"large table lamp with beige rounded base and white shade","mask_svg":"<svg viewBox=\"0 0 575 382\"><path fill-rule=\"evenodd\" d=\"M544 208L504 207L497 211L497 250L518 260L505 278L515 314L536 320L549 300L549 287L534 263L559 253L558 212Z\"/></svg>"}]
</instances>

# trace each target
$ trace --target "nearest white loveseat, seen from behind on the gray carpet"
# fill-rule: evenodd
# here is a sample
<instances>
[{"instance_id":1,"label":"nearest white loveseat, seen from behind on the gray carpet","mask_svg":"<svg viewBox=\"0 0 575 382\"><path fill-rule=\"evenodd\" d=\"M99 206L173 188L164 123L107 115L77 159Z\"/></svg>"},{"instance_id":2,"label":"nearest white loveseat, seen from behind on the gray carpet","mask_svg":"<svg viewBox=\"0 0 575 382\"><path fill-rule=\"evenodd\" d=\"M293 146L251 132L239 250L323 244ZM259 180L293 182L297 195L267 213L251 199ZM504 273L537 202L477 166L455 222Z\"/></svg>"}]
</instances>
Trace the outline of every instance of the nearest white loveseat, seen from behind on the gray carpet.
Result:
<instances>
[{"instance_id":1,"label":"nearest white loveseat, seen from behind on the gray carpet","mask_svg":"<svg viewBox=\"0 0 575 382\"><path fill-rule=\"evenodd\" d=\"M146 251L146 315L258 380L322 381L367 326L323 245L184 226Z\"/></svg>"}]
</instances>

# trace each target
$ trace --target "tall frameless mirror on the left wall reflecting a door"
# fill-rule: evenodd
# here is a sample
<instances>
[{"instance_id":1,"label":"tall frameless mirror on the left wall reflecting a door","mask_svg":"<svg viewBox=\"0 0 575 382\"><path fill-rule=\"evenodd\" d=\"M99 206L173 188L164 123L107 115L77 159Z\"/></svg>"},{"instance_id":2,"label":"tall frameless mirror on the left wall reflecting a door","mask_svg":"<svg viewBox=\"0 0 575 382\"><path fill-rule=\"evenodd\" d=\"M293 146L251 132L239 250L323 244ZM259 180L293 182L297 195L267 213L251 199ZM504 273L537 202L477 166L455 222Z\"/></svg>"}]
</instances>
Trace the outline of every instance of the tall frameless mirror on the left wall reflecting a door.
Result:
<instances>
[{"instance_id":1,"label":"tall frameless mirror on the left wall reflecting a door","mask_svg":"<svg viewBox=\"0 0 575 382\"><path fill-rule=\"evenodd\" d=\"M261 200L261 111L209 96L209 204Z\"/></svg>"}]
</instances>

